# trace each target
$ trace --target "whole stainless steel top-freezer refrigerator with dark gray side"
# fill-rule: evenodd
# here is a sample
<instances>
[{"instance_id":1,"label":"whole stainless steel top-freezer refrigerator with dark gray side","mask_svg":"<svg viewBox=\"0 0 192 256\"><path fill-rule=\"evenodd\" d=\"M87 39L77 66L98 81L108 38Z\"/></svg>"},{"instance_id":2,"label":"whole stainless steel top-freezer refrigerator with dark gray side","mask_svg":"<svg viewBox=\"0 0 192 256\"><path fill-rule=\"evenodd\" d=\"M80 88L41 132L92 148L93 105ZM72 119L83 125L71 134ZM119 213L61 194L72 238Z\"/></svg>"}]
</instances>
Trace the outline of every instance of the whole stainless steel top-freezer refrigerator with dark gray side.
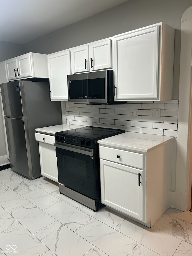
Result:
<instances>
[{"instance_id":1,"label":"whole stainless steel top-freezer refrigerator with dark gray side","mask_svg":"<svg viewBox=\"0 0 192 256\"><path fill-rule=\"evenodd\" d=\"M35 128L59 125L60 102L50 101L49 82L1 84L10 167L29 179L41 176Z\"/></svg>"}]
</instances>

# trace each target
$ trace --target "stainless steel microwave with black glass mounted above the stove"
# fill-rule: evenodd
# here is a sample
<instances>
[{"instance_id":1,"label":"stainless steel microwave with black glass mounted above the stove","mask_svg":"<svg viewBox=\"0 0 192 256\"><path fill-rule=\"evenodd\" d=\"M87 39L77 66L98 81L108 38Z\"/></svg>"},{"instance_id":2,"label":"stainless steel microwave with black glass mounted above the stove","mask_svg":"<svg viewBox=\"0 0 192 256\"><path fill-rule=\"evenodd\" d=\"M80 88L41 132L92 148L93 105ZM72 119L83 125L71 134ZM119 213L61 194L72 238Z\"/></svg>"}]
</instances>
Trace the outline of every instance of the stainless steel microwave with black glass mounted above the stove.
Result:
<instances>
[{"instance_id":1,"label":"stainless steel microwave with black glass mounted above the stove","mask_svg":"<svg viewBox=\"0 0 192 256\"><path fill-rule=\"evenodd\" d=\"M113 70L68 75L67 80L69 102L85 104L119 103L113 100Z\"/></svg>"}]
</instances>

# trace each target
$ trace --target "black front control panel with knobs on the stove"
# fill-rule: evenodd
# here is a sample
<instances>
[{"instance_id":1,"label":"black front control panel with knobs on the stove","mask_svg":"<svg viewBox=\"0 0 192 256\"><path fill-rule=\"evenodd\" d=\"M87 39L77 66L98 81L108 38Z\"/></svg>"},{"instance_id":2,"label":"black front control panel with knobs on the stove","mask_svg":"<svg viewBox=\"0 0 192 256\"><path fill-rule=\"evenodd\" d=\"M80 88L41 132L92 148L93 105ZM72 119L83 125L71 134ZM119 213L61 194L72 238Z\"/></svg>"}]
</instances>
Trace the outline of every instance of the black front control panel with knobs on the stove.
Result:
<instances>
[{"instance_id":1,"label":"black front control panel with knobs on the stove","mask_svg":"<svg viewBox=\"0 0 192 256\"><path fill-rule=\"evenodd\" d=\"M82 147L89 147L89 148L95 147L94 141L89 140L88 138L82 138L82 137L77 137L73 135L62 135L59 133L55 133L55 141L66 143L66 144L73 144L73 145L82 146Z\"/></svg>"}]
</instances>

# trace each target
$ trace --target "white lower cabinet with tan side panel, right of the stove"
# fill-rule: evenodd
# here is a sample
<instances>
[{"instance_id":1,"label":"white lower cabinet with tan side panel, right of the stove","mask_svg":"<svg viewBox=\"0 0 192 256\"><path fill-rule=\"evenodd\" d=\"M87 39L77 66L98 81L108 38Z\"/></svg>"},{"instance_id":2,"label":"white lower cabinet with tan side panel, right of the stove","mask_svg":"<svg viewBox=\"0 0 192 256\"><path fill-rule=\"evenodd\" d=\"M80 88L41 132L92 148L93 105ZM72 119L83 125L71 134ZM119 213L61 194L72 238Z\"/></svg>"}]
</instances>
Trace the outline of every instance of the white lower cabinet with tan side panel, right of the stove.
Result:
<instances>
[{"instance_id":1,"label":"white lower cabinet with tan side panel, right of the stove","mask_svg":"<svg viewBox=\"0 0 192 256\"><path fill-rule=\"evenodd\" d=\"M117 136L123 137L122 134ZM111 138L98 141L101 202L110 209L151 227L173 205L171 176L174 173L173 159L176 159L173 156L173 140L166 143L163 140L162 143L154 142L155 146L149 149L148 139L148 149L139 151L145 140L138 143L138 149L130 150L123 146L129 144L126 142L127 137L125 133L123 144L118 144L116 140L116 146ZM140 141L138 138L137 140Z\"/></svg>"}]
</instances>

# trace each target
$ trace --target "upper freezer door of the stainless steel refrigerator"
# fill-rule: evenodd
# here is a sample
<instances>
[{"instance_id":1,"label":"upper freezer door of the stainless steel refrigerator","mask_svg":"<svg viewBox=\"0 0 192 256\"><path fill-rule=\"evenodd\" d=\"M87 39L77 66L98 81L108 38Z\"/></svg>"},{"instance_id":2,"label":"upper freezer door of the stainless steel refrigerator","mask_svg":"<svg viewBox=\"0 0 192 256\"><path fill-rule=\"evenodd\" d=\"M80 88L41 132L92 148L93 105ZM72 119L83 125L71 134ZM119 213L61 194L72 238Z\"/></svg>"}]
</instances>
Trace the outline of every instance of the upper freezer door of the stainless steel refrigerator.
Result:
<instances>
[{"instance_id":1,"label":"upper freezer door of the stainless steel refrigerator","mask_svg":"<svg viewBox=\"0 0 192 256\"><path fill-rule=\"evenodd\" d=\"M1 84L1 94L5 116L24 116L19 81Z\"/></svg>"}]
</instances>

